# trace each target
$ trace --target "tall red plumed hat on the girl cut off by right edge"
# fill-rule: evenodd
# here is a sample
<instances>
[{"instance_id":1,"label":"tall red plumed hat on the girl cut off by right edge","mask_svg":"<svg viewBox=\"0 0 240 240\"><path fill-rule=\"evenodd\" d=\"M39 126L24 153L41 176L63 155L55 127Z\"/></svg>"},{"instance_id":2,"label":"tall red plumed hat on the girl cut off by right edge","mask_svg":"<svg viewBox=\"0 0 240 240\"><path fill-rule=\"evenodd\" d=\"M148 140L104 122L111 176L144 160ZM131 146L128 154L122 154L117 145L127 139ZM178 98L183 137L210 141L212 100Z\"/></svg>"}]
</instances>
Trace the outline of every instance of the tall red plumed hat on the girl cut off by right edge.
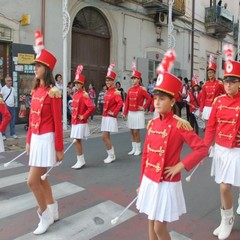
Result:
<instances>
[{"instance_id":1,"label":"tall red plumed hat on the girl cut off by right edge","mask_svg":"<svg viewBox=\"0 0 240 240\"><path fill-rule=\"evenodd\" d=\"M233 61L233 46L226 44L223 48L225 53L224 79L233 80L240 78L240 62Z\"/></svg>"}]
</instances>

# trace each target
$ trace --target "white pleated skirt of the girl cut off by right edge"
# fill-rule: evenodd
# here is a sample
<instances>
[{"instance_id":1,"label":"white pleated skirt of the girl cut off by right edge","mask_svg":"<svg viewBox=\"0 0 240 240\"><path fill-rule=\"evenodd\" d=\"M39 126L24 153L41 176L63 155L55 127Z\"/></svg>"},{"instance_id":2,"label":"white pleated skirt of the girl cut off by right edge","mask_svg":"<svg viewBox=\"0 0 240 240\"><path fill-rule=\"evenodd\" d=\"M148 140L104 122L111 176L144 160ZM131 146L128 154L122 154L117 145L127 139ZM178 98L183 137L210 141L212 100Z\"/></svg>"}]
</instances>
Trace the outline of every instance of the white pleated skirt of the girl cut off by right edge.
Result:
<instances>
[{"instance_id":1,"label":"white pleated skirt of the girl cut off by right edge","mask_svg":"<svg viewBox=\"0 0 240 240\"><path fill-rule=\"evenodd\" d=\"M240 148L226 148L215 144L211 176L215 182L240 186Z\"/></svg>"}]
</instances>

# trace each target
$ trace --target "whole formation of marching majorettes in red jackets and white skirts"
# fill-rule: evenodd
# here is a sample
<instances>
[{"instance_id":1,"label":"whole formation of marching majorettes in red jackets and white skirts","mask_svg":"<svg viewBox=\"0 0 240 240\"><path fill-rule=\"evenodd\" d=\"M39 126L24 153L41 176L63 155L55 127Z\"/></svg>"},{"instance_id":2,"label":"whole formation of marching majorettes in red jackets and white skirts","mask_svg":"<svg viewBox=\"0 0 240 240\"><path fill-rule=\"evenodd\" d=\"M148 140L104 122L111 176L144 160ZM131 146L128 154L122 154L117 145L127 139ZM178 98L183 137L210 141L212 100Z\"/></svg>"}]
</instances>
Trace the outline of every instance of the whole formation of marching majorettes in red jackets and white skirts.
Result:
<instances>
[{"instance_id":1,"label":"whole formation of marching majorettes in red jackets and white skirts","mask_svg":"<svg viewBox=\"0 0 240 240\"><path fill-rule=\"evenodd\" d=\"M61 163L64 152L61 91L55 86L53 78L57 60L44 49L40 31L36 31L35 40L35 84L32 89L26 153L30 166L27 184L38 205L39 224L33 233L39 235L59 219L58 203L47 174ZM185 91L183 101L189 106L189 122L179 116L177 107L179 99L183 97L184 86L179 77L170 73L176 58L174 50L167 51L159 64L151 95L141 86L141 72L133 64L132 87L123 100L122 92L115 87L115 64L111 63L108 67L101 122L102 140L107 152L103 163L110 164L117 159L110 134L118 132L117 116L121 111L131 133L132 149L128 155L142 154L137 197L118 217L112 219L112 224L116 224L136 201L139 212L147 215L149 239L170 240L168 223L179 220L186 213L181 171L190 171L195 167L193 174L210 154L213 158L211 175L220 186L221 198L221 222L213 235L222 240L230 236L234 225L232 187L240 187L240 63L232 60L231 45L226 45L224 51L226 62L223 81L216 79L216 64L214 57L210 56L206 83L201 87L194 74ZM70 137L73 142L69 146L74 145L76 149L77 161L73 169L81 169L86 165L82 141L90 135L88 119L95 111L93 101L84 90L83 69L81 64L77 67L73 81L76 89L71 104ZM154 117L147 125L142 149L140 130L145 128L145 113L149 108L150 112L154 111ZM1 98L0 113L0 132L3 133L11 115ZM198 135L199 128L204 130L203 139ZM191 152L181 157L185 143ZM4 151L1 134L0 151ZM6 163L5 167L12 161ZM47 171L47 168L50 169ZM190 181L192 174L187 181Z\"/></svg>"}]
</instances>

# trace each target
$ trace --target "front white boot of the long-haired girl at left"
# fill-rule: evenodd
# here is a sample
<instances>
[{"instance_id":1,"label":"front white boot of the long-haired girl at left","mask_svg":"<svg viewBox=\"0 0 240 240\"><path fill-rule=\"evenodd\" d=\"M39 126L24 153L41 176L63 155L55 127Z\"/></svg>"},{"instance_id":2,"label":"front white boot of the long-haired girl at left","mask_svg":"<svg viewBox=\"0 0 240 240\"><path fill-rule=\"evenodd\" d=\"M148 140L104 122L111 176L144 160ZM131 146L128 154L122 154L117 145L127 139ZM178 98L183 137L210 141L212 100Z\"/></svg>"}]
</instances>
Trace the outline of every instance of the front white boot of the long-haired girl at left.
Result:
<instances>
[{"instance_id":1,"label":"front white boot of the long-haired girl at left","mask_svg":"<svg viewBox=\"0 0 240 240\"><path fill-rule=\"evenodd\" d=\"M53 224L53 221L54 221L49 208L46 208L46 210L42 214L40 214L39 212L37 212L37 213L38 213L40 222L38 224L38 227L33 232L36 235L45 233L47 231L48 227L51 224Z\"/></svg>"}]
</instances>

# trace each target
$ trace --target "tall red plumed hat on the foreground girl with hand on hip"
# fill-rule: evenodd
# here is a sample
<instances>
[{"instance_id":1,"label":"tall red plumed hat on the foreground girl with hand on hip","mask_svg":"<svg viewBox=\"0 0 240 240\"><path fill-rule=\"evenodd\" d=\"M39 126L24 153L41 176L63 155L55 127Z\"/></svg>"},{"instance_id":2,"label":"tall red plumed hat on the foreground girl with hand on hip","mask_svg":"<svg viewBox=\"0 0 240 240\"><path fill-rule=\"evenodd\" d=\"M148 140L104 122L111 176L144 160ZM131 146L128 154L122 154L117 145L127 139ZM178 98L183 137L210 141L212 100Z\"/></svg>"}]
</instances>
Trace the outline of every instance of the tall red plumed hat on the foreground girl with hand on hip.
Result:
<instances>
[{"instance_id":1,"label":"tall red plumed hat on the foreground girl with hand on hip","mask_svg":"<svg viewBox=\"0 0 240 240\"><path fill-rule=\"evenodd\" d=\"M170 65L174 63L175 58L174 50L168 50L164 55L162 62L157 68L158 78L154 90L168 93L177 98L179 91L182 90L182 82L179 78L169 73Z\"/></svg>"}]
</instances>

